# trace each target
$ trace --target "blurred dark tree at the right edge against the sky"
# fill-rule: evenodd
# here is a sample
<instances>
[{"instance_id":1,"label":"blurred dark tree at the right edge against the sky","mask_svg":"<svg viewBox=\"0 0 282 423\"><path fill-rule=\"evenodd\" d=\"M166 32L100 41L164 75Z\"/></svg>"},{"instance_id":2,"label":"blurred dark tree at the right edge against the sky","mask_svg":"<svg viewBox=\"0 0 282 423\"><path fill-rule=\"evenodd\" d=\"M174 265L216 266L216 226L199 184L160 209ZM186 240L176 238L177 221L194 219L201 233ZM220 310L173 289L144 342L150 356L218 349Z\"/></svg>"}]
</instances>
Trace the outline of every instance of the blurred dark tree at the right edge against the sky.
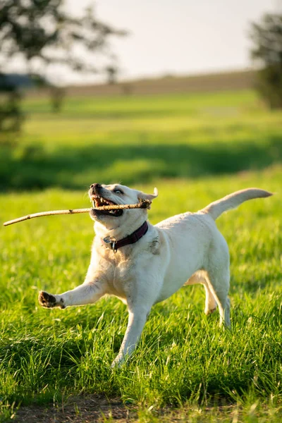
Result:
<instances>
[{"instance_id":1,"label":"blurred dark tree at the right edge against the sky","mask_svg":"<svg viewBox=\"0 0 282 423\"><path fill-rule=\"evenodd\" d=\"M259 64L257 90L271 109L282 108L282 15L266 14L252 23L252 59Z\"/></svg>"}]
</instances>

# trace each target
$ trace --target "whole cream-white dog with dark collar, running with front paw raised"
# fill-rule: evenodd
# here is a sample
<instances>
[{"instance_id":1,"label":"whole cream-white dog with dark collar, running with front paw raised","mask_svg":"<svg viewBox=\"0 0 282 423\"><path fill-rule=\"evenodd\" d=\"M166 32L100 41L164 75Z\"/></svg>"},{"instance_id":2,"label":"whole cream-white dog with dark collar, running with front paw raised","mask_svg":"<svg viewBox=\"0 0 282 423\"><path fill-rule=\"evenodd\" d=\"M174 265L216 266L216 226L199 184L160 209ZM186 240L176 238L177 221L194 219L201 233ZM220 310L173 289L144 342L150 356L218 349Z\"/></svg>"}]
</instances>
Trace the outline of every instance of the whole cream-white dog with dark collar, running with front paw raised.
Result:
<instances>
[{"instance_id":1,"label":"whole cream-white dog with dark collar, running with front paw raised","mask_svg":"<svg viewBox=\"0 0 282 423\"><path fill-rule=\"evenodd\" d=\"M89 195L99 207L152 202L158 191L154 188L154 194L145 194L125 185L94 183ZM215 220L247 200L270 195L258 188L240 190L197 213L178 214L156 226L147 221L147 209L91 209L96 236L84 283L62 294L41 291L39 304L47 308L93 304L105 294L125 302L128 326L113 367L133 353L152 306L183 284L201 283L206 292L205 314L218 306L220 325L229 328L229 252Z\"/></svg>"}]
</instances>

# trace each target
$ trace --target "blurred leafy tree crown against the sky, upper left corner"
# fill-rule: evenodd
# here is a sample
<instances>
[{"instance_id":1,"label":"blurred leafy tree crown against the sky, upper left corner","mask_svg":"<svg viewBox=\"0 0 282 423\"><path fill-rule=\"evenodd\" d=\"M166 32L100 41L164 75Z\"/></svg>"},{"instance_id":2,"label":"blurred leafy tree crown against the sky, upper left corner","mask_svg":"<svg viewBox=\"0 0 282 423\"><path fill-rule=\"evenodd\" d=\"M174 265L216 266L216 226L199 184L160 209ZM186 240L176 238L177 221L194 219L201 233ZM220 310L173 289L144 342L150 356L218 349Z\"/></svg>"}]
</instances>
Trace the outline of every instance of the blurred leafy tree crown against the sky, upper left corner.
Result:
<instances>
[{"instance_id":1,"label":"blurred leafy tree crown against the sky, upper left corner","mask_svg":"<svg viewBox=\"0 0 282 423\"><path fill-rule=\"evenodd\" d=\"M67 13L63 0L1 0L0 72L20 58L33 80L46 80L54 64L97 73L105 68L97 61L113 61L110 37L125 34L98 20L92 7L78 18Z\"/></svg>"}]
</instances>

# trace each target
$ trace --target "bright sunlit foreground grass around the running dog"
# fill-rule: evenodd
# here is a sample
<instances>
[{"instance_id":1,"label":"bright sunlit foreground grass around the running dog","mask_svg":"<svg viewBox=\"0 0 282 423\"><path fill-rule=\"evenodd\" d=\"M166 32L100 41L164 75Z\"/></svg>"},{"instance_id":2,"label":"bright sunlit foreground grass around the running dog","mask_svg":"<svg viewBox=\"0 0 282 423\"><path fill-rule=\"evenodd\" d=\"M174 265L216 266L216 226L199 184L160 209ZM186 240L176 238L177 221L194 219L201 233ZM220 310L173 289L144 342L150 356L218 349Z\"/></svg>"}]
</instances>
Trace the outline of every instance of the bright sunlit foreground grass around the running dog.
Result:
<instances>
[{"instance_id":1,"label":"bright sunlit foreground grass around the running dog","mask_svg":"<svg viewBox=\"0 0 282 423\"><path fill-rule=\"evenodd\" d=\"M161 181L152 223L195 211L227 192L260 185L278 191L281 168L244 178ZM152 185L142 186L147 191ZM166 201L170 192L170 201ZM81 192L49 190L2 195L1 221L42 209L86 207ZM164 201L166 207L164 208ZM201 287L185 287L152 309L132 360L109 368L126 326L125 306L114 298L66 310L37 306L41 288L62 291L87 270L92 222L87 215L51 216L2 228L1 396L23 404L66 393L121 394L141 405L281 396L281 222L276 195L248 202L219 219L231 247L233 331L203 314ZM254 220L254 216L256 216ZM261 243L263 240L263 243ZM244 408L245 410L245 408Z\"/></svg>"}]
</instances>

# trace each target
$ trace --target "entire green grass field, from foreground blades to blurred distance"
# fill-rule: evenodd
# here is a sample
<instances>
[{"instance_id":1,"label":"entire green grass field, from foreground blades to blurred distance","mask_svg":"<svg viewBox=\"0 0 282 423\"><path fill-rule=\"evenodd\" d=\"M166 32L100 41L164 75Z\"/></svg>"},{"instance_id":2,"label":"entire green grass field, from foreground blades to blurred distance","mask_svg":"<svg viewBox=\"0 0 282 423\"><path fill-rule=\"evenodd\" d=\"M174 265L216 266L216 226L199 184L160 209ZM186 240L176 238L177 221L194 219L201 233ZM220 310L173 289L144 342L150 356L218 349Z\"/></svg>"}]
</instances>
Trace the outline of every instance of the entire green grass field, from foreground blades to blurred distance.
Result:
<instances>
[{"instance_id":1,"label":"entire green grass field, from foreground blades to blurred distance","mask_svg":"<svg viewBox=\"0 0 282 423\"><path fill-rule=\"evenodd\" d=\"M253 92L70 98L59 115L47 99L28 99L25 111L22 135L1 138L1 222L88 207L93 182L157 186L152 223L242 188L276 195L218 220L231 252L232 331L219 329L217 312L204 316L202 287L183 287L153 307L133 357L114 370L127 323L121 302L37 304L40 289L82 283L89 216L2 227L0 422L54 422L20 413L61 410L74 397L74 415L56 421L94 422L83 398L99 394L121 398L140 422L281 422L281 112ZM112 421L109 411L101 421Z\"/></svg>"}]
</instances>

